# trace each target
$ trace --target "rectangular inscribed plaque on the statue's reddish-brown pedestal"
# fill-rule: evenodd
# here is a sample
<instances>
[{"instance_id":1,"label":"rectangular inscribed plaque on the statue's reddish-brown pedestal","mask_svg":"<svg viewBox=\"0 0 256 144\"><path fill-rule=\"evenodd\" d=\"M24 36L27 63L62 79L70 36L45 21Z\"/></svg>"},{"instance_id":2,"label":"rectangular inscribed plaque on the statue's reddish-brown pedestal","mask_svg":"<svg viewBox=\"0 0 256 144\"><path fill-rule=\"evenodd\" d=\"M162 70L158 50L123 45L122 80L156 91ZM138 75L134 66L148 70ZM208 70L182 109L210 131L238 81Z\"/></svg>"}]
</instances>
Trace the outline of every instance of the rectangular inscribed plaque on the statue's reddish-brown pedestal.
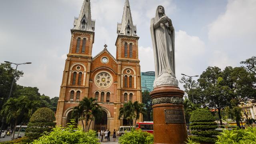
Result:
<instances>
[{"instance_id":1,"label":"rectangular inscribed plaque on the statue's reddish-brown pedestal","mask_svg":"<svg viewBox=\"0 0 256 144\"><path fill-rule=\"evenodd\" d=\"M183 110L164 110L166 123L185 123Z\"/></svg>"}]
</instances>

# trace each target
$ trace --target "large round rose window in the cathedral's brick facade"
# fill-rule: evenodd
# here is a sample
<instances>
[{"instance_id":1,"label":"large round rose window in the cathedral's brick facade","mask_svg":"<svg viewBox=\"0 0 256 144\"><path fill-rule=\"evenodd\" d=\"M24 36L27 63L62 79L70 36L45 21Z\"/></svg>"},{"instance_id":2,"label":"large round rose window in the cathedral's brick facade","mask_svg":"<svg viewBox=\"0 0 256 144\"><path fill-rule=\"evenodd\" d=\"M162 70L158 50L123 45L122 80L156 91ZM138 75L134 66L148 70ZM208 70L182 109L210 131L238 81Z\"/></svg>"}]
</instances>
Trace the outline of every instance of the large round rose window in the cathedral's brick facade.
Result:
<instances>
[{"instance_id":1,"label":"large round rose window in the cathedral's brick facade","mask_svg":"<svg viewBox=\"0 0 256 144\"><path fill-rule=\"evenodd\" d=\"M106 88L110 86L112 82L111 76L106 72L101 72L95 77L95 82L98 86Z\"/></svg>"}]
</instances>

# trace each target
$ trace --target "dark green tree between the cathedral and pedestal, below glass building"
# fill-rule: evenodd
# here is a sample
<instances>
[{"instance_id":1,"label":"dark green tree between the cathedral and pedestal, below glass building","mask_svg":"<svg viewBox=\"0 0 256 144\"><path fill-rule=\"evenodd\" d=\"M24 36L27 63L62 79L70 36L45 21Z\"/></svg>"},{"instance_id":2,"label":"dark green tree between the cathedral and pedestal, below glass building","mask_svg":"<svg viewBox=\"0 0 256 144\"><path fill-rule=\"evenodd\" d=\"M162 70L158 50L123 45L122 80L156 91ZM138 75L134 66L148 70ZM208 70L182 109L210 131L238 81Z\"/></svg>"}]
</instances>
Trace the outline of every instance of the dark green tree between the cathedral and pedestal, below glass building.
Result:
<instances>
[{"instance_id":1,"label":"dark green tree between the cathedral and pedestal, below glass building","mask_svg":"<svg viewBox=\"0 0 256 144\"><path fill-rule=\"evenodd\" d=\"M143 114L144 121L153 121L153 118L151 116L153 113L152 99L147 90L144 90L144 92L142 92L142 103L145 105L146 108L146 112Z\"/></svg>"}]
</instances>

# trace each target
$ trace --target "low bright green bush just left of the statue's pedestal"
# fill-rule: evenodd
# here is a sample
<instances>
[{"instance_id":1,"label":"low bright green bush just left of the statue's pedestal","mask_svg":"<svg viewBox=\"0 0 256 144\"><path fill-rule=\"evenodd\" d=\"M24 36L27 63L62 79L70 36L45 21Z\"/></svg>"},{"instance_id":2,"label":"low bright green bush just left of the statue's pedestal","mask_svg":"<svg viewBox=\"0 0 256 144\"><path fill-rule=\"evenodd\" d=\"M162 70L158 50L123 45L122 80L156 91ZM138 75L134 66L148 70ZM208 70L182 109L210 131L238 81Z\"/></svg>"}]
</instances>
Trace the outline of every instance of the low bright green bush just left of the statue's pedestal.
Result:
<instances>
[{"instance_id":1,"label":"low bright green bush just left of the statue's pedestal","mask_svg":"<svg viewBox=\"0 0 256 144\"><path fill-rule=\"evenodd\" d=\"M153 144L154 136L142 130L132 130L119 138L119 144Z\"/></svg>"}]
</instances>

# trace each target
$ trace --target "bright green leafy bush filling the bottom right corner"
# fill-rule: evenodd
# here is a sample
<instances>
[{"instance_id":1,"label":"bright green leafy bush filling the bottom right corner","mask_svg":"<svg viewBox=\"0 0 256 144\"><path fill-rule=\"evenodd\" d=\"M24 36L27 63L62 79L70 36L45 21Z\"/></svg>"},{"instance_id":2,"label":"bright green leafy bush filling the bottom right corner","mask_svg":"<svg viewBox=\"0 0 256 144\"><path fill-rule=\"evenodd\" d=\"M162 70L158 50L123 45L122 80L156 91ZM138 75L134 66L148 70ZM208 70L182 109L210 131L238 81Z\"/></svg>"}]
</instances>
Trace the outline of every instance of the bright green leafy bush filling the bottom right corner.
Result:
<instances>
[{"instance_id":1,"label":"bright green leafy bush filling the bottom right corner","mask_svg":"<svg viewBox=\"0 0 256 144\"><path fill-rule=\"evenodd\" d=\"M223 130L215 144L256 144L256 128Z\"/></svg>"}]
</instances>

